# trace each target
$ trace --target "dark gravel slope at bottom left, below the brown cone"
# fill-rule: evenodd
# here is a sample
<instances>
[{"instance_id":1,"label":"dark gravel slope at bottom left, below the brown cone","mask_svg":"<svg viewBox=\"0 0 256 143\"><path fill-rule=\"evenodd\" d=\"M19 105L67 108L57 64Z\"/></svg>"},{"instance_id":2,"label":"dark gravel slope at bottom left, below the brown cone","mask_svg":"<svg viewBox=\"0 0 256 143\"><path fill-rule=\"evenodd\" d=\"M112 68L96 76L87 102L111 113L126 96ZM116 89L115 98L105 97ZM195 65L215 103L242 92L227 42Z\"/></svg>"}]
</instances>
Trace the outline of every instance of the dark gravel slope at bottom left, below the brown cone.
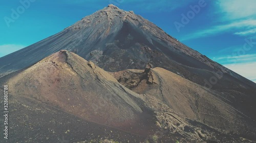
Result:
<instances>
[{"instance_id":1,"label":"dark gravel slope at bottom left, below the brown cone","mask_svg":"<svg viewBox=\"0 0 256 143\"><path fill-rule=\"evenodd\" d=\"M119 142L127 140L139 142L146 138L142 135L81 119L72 113L32 98L10 95L9 105L8 140L2 138L1 143L84 143L103 142L111 139ZM3 109L1 108L0 111L3 112ZM1 128L4 128L2 124Z\"/></svg>"}]
</instances>

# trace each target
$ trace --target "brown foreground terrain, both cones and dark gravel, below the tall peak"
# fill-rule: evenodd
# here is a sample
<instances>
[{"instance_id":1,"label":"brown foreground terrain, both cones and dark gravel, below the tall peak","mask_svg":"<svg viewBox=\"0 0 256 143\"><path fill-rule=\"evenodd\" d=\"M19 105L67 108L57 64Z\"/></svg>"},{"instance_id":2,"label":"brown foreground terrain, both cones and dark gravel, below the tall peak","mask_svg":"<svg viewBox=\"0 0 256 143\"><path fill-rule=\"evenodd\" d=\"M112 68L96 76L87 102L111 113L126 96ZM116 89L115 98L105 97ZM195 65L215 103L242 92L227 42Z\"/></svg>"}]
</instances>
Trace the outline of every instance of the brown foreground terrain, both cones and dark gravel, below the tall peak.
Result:
<instances>
[{"instance_id":1,"label":"brown foreground terrain, both cones and dark gravel, below the tall peak","mask_svg":"<svg viewBox=\"0 0 256 143\"><path fill-rule=\"evenodd\" d=\"M9 85L8 141L256 140L255 121L221 93L162 68L111 74L61 50L0 78Z\"/></svg>"}]
</instances>

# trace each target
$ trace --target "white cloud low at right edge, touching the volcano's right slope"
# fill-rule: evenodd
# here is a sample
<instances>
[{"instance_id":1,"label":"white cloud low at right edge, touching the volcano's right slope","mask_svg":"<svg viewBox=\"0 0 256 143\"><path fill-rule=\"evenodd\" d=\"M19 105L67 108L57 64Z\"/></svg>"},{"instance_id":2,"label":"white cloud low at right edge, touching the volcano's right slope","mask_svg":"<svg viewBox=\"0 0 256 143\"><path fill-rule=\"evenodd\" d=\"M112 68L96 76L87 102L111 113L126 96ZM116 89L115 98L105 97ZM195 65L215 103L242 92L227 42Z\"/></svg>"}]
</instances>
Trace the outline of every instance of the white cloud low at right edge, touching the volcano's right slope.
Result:
<instances>
[{"instance_id":1,"label":"white cloud low at right edge, touching the volcano's right slope","mask_svg":"<svg viewBox=\"0 0 256 143\"><path fill-rule=\"evenodd\" d=\"M256 62L239 63L239 64L226 64L223 65L228 69L252 80L256 81Z\"/></svg>"}]
</instances>

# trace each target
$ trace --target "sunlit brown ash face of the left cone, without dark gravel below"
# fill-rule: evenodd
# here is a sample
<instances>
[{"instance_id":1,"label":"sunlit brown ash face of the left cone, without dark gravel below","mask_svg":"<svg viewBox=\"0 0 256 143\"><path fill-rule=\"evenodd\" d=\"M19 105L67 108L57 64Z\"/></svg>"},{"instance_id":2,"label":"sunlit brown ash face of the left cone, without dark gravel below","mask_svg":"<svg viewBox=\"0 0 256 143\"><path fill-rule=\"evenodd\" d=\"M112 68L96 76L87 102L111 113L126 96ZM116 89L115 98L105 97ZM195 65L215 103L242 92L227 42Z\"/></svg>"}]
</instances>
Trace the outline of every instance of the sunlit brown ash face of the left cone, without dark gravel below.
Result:
<instances>
[{"instance_id":1,"label":"sunlit brown ash face of the left cone, without dark gravel below","mask_svg":"<svg viewBox=\"0 0 256 143\"><path fill-rule=\"evenodd\" d=\"M136 93L66 50L18 73L8 85L12 95L37 99L82 119L123 129L137 124L143 112L134 101Z\"/></svg>"}]
</instances>

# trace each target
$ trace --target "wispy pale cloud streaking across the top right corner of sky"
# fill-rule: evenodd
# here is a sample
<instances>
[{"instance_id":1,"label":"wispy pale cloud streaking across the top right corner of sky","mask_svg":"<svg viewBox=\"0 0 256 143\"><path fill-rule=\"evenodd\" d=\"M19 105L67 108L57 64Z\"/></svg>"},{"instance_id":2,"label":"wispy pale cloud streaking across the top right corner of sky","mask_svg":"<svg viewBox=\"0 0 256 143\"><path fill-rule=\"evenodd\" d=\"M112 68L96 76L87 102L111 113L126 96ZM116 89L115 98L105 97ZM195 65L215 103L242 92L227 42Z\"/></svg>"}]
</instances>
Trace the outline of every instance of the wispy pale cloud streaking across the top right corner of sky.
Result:
<instances>
[{"instance_id":1,"label":"wispy pale cloud streaking across the top right corner of sky","mask_svg":"<svg viewBox=\"0 0 256 143\"><path fill-rule=\"evenodd\" d=\"M239 36L252 36L256 33L256 13L254 0L227 0L216 1L216 12L212 14L220 15L217 25L206 27L204 30L198 30L181 39L186 41L207 36L214 36L223 33L231 33Z\"/></svg>"}]
</instances>

